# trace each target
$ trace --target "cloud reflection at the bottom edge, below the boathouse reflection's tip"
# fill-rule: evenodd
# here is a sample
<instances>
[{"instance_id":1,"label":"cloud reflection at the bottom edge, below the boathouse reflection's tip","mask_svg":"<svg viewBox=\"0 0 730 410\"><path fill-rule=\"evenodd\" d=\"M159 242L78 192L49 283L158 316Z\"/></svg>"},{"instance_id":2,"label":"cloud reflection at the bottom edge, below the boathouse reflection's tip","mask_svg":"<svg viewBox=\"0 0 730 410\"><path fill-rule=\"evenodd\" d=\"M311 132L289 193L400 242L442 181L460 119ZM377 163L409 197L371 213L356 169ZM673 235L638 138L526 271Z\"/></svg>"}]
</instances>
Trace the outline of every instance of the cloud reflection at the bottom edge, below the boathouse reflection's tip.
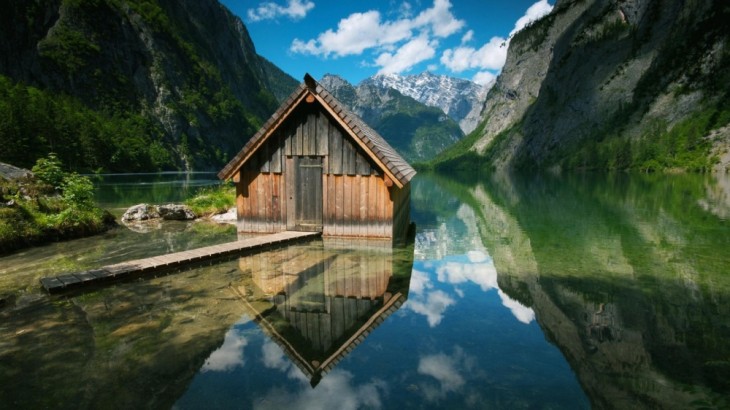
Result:
<instances>
[{"instance_id":1,"label":"cloud reflection at the bottom edge, below the boathouse reflection's tip","mask_svg":"<svg viewBox=\"0 0 730 410\"><path fill-rule=\"evenodd\" d=\"M255 409L359 409L381 408L381 393L386 384L372 380L361 386L352 385L352 374L335 369L328 373L317 385L309 386L309 380L301 379L299 391L272 389L260 399L256 399Z\"/></svg>"}]
</instances>

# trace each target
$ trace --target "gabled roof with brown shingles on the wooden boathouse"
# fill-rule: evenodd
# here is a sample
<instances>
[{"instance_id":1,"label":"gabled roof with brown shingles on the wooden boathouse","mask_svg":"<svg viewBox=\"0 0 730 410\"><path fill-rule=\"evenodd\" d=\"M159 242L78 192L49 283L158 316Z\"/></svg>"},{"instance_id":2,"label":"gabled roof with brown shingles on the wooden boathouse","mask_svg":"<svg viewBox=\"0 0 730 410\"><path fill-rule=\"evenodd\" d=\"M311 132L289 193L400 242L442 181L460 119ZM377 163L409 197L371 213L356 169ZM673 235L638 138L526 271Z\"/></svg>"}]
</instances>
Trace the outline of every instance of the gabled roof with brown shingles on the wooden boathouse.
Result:
<instances>
[{"instance_id":1,"label":"gabled roof with brown shingles on the wooden boathouse","mask_svg":"<svg viewBox=\"0 0 730 410\"><path fill-rule=\"evenodd\" d=\"M365 153L378 164L391 180L400 188L405 186L416 174L410 166L385 139L365 122L340 103L329 91L322 87L309 74L304 82L284 101L261 129L243 146L241 151L219 173L218 178L232 178L237 170L273 134L294 109L308 96L312 95L337 120L348 134L360 145Z\"/></svg>"}]
</instances>

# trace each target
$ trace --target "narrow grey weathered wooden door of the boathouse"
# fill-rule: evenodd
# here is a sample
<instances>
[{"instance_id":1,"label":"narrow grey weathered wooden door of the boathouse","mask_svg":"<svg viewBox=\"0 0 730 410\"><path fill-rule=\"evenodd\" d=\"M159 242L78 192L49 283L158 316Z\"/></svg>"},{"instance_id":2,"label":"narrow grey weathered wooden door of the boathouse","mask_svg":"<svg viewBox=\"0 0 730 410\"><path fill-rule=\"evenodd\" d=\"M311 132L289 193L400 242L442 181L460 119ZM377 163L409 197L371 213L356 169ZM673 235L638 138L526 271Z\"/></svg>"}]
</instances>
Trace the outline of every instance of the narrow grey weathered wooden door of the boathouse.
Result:
<instances>
[{"instance_id":1,"label":"narrow grey weathered wooden door of the boathouse","mask_svg":"<svg viewBox=\"0 0 730 410\"><path fill-rule=\"evenodd\" d=\"M322 157L294 157L294 229L322 231Z\"/></svg>"}]
</instances>

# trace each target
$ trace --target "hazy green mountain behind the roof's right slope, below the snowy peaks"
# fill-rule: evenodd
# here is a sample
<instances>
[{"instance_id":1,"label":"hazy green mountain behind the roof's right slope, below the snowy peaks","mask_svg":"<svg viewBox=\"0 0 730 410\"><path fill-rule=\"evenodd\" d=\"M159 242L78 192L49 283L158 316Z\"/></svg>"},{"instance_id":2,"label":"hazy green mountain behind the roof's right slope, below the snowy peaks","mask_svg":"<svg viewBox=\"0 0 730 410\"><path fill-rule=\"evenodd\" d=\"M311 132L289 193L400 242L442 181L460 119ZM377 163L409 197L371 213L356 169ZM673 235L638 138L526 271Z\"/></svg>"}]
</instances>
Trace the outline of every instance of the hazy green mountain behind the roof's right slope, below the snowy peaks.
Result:
<instances>
[{"instance_id":1,"label":"hazy green mountain behind the roof's right slope, below the snowy peaks","mask_svg":"<svg viewBox=\"0 0 730 410\"><path fill-rule=\"evenodd\" d=\"M408 161L430 160L464 136L459 125L441 109L429 107L393 88L369 81L353 86L329 74L320 84Z\"/></svg>"}]
</instances>

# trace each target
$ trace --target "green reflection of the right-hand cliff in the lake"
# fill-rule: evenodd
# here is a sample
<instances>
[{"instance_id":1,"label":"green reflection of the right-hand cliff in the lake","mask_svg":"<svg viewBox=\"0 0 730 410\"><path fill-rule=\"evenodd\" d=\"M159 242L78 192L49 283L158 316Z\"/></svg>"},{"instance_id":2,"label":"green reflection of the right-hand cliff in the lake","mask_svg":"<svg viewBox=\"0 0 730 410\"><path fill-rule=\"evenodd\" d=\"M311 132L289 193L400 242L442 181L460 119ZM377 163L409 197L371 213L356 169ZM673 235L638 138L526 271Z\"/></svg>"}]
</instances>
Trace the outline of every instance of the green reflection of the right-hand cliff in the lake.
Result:
<instances>
[{"instance_id":1,"label":"green reflection of the right-hand cliff in the lake","mask_svg":"<svg viewBox=\"0 0 730 410\"><path fill-rule=\"evenodd\" d=\"M727 225L693 178L495 176L468 191L500 288L535 310L595 407L730 392Z\"/></svg>"}]
</instances>

